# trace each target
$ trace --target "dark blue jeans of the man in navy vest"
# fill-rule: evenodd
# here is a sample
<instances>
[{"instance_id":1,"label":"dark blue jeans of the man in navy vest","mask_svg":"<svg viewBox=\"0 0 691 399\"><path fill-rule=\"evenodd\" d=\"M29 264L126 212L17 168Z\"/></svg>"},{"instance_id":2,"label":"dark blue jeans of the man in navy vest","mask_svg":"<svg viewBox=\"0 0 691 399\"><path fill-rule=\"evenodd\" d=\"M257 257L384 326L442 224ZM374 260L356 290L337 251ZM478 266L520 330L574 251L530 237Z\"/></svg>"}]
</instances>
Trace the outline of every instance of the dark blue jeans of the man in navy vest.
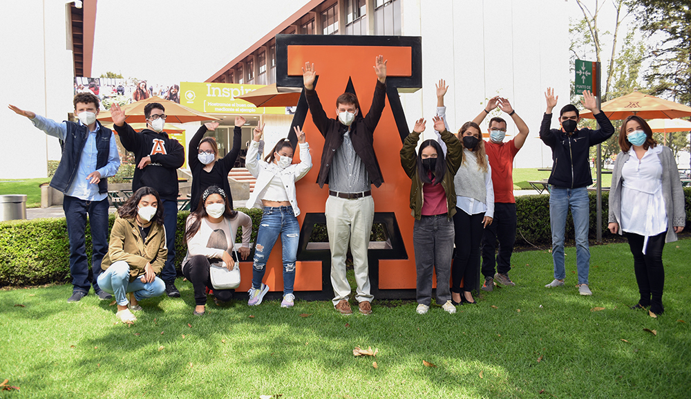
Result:
<instances>
[{"instance_id":1,"label":"dark blue jeans of the man in navy vest","mask_svg":"<svg viewBox=\"0 0 691 399\"><path fill-rule=\"evenodd\" d=\"M101 261L108 252L108 198L103 201L84 201L65 196L62 209L67 220L67 236L70 240L70 275L73 290L88 293L88 261L86 258L86 214L91 225L91 268L93 270L93 290L98 293L98 275Z\"/></svg>"}]
</instances>

